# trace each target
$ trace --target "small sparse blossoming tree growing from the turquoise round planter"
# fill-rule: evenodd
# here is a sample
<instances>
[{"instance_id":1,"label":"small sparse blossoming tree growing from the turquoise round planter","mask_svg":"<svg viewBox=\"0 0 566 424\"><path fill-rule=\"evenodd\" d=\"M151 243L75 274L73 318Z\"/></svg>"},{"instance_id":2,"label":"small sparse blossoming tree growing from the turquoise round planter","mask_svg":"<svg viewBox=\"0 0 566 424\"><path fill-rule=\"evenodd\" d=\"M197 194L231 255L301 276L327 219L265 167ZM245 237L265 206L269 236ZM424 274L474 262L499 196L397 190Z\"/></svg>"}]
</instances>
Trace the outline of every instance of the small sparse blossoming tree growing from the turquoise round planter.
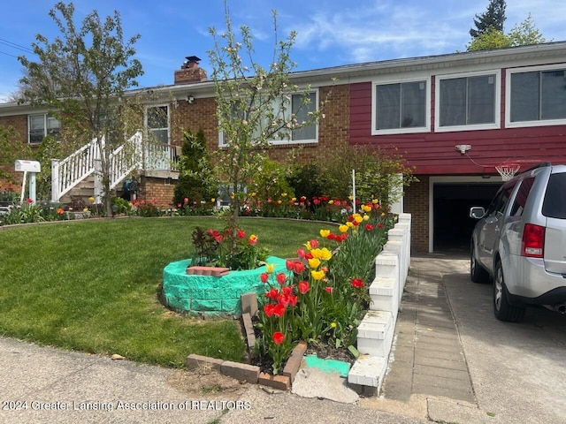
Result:
<instances>
[{"instance_id":1,"label":"small sparse blossoming tree growing from the turquoise round planter","mask_svg":"<svg viewBox=\"0 0 566 424\"><path fill-rule=\"evenodd\" d=\"M245 196L245 186L264 163L270 140L288 139L292 131L310 125L322 117L310 103L309 87L300 89L292 84L289 72L294 69L290 50L296 34L287 40L277 40L277 12L273 11L275 47L273 61L267 69L254 61L253 37L249 27L240 28L240 40L234 33L225 3L226 32L218 34L210 28L214 49L209 51L211 79L216 87L218 126L224 148L218 152L218 175L233 192L233 228ZM298 108L290 95L302 94ZM305 119L299 121L299 110Z\"/></svg>"}]
</instances>

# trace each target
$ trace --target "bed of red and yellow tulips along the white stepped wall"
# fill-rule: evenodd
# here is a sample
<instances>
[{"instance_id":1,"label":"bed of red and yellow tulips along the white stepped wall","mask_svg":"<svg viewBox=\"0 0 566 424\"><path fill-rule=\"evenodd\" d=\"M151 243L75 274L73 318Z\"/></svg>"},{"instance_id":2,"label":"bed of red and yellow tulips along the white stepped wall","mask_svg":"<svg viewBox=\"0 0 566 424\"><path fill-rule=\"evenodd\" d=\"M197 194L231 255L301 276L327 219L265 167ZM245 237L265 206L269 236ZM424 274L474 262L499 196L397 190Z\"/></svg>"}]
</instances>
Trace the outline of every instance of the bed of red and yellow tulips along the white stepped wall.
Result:
<instances>
[{"instance_id":1,"label":"bed of red and yellow tulips along the white stepped wall","mask_svg":"<svg viewBox=\"0 0 566 424\"><path fill-rule=\"evenodd\" d=\"M321 241L311 239L299 248L298 260L287 260L293 276L274 274L267 266L260 276L265 293L256 353L271 360L273 374L300 340L357 354L357 327L370 306L374 260L392 223L377 202L366 203L362 214L348 216L339 232L320 230Z\"/></svg>"}]
</instances>

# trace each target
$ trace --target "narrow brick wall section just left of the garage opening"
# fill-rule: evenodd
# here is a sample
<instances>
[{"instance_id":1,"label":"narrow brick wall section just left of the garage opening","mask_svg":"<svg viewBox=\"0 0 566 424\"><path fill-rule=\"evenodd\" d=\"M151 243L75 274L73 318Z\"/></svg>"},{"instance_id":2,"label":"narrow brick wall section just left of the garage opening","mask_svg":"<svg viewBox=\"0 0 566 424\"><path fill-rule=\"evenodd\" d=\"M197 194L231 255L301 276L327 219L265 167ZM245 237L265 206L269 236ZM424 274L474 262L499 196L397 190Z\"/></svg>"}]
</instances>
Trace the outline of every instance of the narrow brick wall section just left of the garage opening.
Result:
<instances>
[{"instance_id":1,"label":"narrow brick wall section just left of the garage opening","mask_svg":"<svg viewBox=\"0 0 566 424\"><path fill-rule=\"evenodd\" d=\"M429 178L417 175L419 182L405 188L404 209L412 214L411 249L413 252L428 252L429 233Z\"/></svg>"}]
</instances>

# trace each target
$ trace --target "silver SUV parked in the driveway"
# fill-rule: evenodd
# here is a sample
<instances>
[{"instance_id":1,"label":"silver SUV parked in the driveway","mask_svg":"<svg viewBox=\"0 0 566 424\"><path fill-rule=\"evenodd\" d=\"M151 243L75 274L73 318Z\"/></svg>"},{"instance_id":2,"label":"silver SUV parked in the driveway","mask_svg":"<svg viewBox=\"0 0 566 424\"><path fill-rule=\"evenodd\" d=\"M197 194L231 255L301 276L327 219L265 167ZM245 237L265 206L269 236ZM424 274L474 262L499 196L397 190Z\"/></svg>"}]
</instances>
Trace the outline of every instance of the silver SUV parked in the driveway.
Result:
<instances>
[{"instance_id":1,"label":"silver SUV parked in the driveway","mask_svg":"<svg viewBox=\"0 0 566 424\"><path fill-rule=\"evenodd\" d=\"M493 312L523 320L525 307L566 314L566 165L540 163L506 181L479 219L470 243L470 276L493 279Z\"/></svg>"}]
</instances>

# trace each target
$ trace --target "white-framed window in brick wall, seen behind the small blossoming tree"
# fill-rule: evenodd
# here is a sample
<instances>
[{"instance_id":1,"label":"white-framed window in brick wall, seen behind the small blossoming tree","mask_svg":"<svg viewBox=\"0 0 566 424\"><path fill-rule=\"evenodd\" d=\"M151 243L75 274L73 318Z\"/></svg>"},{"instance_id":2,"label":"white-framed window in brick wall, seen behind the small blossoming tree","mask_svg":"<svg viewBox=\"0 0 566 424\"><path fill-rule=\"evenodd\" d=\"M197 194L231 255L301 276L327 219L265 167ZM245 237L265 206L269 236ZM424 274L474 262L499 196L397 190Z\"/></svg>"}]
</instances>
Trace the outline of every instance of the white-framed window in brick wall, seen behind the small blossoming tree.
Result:
<instances>
[{"instance_id":1,"label":"white-framed window in brick wall, seen behind the small blossoming tree","mask_svg":"<svg viewBox=\"0 0 566 424\"><path fill-rule=\"evenodd\" d=\"M278 99L273 103L273 113L277 114L279 110L286 122L291 122L292 115L294 115L294 119L298 123L309 121L310 114L317 110L317 92L313 91L308 93L306 95L306 102L303 102L303 96L304 95L302 94L289 95L287 104L283 104L283 101ZM238 118L235 113L233 118ZM262 123L262 125L267 124ZM274 145L289 143L316 143L318 138L317 131L317 123L313 122L310 125L303 125L302 127L294 130L281 130L277 134L274 134L269 142ZM259 137L260 132L261 128L256 128L252 137ZM219 146L227 146L224 133L219 134L218 140Z\"/></svg>"}]
</instances>

